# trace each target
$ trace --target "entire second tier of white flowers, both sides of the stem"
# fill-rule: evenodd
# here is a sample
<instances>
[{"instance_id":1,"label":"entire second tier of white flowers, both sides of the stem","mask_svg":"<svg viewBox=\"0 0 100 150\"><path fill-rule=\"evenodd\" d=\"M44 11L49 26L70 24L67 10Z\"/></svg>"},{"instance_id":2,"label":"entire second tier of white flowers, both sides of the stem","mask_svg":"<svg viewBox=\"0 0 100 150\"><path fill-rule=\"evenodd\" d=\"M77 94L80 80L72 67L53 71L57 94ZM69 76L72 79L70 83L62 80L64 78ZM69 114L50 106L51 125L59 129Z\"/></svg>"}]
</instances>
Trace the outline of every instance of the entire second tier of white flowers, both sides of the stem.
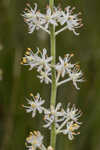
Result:
<instances>
[{"instance_id":1,"label":"entire second tier of white flowers, both sides of the stem","mask_svg":"<svg viewBox=\"0 0 100 150\"><path fill-rule=\"evenodd\" d=\"M43 49L43 52L37 49L36 53L33 53L33 51L28 48L25 56L22 58L21 64L28 65L30 67L29 70L36 68L39 73L37 77L40 79L40 82L46 84L52 83L50 77L52 75L51 70L54 68L57 71L57 86L72 81L76 89L79 90L80 88L77 86L77 82L84 81L83 73L80 70L79 65L70 62L70 59L73 56L73 54L66 54L64 59L59 56L59 62L53 66L51 65L52 56L47 56L47 50L45 48ZM61 77L64 78L65 76L67 76L67 79L59 81Z\"/></svg>"}]
</instances>

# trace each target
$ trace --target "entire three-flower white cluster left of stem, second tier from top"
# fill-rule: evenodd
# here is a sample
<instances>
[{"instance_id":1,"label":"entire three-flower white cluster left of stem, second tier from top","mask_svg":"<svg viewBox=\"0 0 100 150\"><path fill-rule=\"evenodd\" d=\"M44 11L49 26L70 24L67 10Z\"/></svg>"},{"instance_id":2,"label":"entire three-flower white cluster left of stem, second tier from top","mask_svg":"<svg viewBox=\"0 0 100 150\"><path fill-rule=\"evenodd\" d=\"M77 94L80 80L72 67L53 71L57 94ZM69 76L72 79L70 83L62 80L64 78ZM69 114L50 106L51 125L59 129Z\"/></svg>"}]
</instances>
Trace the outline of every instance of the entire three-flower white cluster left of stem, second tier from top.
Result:
<instances>
[{"instance_id":1,"label":"entire three-flower white cluster left of stem, second tier from top","mask_svg":"<svg viewBox=\"0 0 100 150\"><path fill-rule=\"evenodd\" d=\"M21 64L30 66L29 70L36 68L40 73L37 77L40 79L40 82L45 82L46 84L51 83L51 61L52 56L47 56L47 50L44 48L43 52L37 49L36 53L28 48L25 56L22 58Z\"/></svg>"}]
</instances>

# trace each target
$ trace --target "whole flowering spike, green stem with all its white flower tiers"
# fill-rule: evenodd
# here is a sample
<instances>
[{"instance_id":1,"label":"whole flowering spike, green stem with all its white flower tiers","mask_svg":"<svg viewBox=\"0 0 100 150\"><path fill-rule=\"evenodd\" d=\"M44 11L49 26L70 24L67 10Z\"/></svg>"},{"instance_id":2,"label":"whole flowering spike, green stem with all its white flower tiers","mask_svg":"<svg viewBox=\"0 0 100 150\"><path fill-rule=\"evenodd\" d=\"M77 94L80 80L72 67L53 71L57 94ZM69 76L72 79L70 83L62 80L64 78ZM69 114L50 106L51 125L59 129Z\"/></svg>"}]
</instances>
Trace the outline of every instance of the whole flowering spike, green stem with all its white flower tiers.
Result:
<instances>
[{"instance_id":1,"label":"whole flowering spike, green stem with all its white flower tiers","mask_svg":"<svg viewBox=\"0 0 100 150\"><path fill-rule=\"evenodd\" d=\"M43 127L52 130L51 145L47 148L43 145L43 136L39 131L30 132L29 137L26 138L26 148L28 150L53 150L57 134L67 135L69 140L72 140L74 135L79 134L76 131L81 125L81 122L79 122L81 111L75 105L68 104L66 110L64 110L61 103L56 104L56 91L58 86L69 81L72 81L75 88L79 90L78 82L84 81L83 73L78 64L71 63L73 54L66 54L64 58L59 56L59 62L56 64L56 49L53 49L56 45L56 36L64 30L67 29L75 35L79 35L77 29L83 25L80 18L81 13L74 13L74 10L75 7L71 8L70 6L67 6L64 10L60 7L47 6L46 13L41 13L35 3L34 8L27 4L27 8L22 14L30 34L41 29L52 35L50 36L52 56L48 57L45 48L42 51L37 48L36 52L28 48L21 62L21 64L29 66L29 70L37 70L37 77L41 83L52 84L49 109L44 107L45 100L42 100L39 93L36 96L31 93L31 98L26 98L28 106L23 105L27 113L32 113L32 118L36 116L37 112L42 114L45 122ZM61 26L61 28L57 30L57 26ZM52 53L53 50L54 53Z\"/></svg>"}]
</instances>

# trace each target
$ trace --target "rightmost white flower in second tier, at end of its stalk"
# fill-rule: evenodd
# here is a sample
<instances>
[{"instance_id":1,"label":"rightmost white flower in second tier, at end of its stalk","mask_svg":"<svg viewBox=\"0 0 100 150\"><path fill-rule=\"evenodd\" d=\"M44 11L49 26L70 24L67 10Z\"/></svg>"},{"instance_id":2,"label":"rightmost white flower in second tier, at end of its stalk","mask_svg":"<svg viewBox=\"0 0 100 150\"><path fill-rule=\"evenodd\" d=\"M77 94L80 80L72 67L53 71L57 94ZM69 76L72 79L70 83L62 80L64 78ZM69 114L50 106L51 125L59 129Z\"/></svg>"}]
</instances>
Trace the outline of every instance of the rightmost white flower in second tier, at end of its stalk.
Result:
<instances>
[{"instance_id":1,"label":"rightmost white flower in second tier, at end of its stalk","mask_svg":"<svg viewBox=\"0 0 100 150\"><path fill-rule=\"evenodd\" d=\"M77 90L80 88L77 86L77 82L83 82L83 73L79 69L79 65L75 65L75 67L72 70L69 70L69 78L72 80L74 86Z\"/></svg>"}]
</instances>

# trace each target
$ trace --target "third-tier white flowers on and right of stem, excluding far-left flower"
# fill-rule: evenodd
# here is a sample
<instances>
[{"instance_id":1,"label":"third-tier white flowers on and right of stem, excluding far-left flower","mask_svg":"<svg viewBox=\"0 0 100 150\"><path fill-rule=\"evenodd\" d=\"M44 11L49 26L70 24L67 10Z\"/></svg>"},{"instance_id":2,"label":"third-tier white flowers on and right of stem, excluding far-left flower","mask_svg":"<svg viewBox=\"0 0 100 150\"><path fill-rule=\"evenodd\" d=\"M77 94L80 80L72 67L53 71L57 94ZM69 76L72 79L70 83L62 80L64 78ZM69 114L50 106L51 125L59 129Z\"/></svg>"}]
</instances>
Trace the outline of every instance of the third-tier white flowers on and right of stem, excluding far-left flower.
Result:
<instances>
[{"instance_id":1,"label":"third-tier white flowers on and right of stem, excluding far-left flower","mask_svg":"<svg viewBox=\"0 0 100 150\"><path fill-rule=\"evenodd\" d=\"M51 129L51 125L54 123L56 127L56 133L63 133L68 135L68 139L72 140L74 135L79 134L74 131L80 127L80 122L78 118L81 116L81 112L76 109L75 105L70 108L68 104L66 111L61 109L61 103L58 103L56 108L53 107L45 112L44 120L46 121L45 128Z\"/></svg>"}]
</instances>

